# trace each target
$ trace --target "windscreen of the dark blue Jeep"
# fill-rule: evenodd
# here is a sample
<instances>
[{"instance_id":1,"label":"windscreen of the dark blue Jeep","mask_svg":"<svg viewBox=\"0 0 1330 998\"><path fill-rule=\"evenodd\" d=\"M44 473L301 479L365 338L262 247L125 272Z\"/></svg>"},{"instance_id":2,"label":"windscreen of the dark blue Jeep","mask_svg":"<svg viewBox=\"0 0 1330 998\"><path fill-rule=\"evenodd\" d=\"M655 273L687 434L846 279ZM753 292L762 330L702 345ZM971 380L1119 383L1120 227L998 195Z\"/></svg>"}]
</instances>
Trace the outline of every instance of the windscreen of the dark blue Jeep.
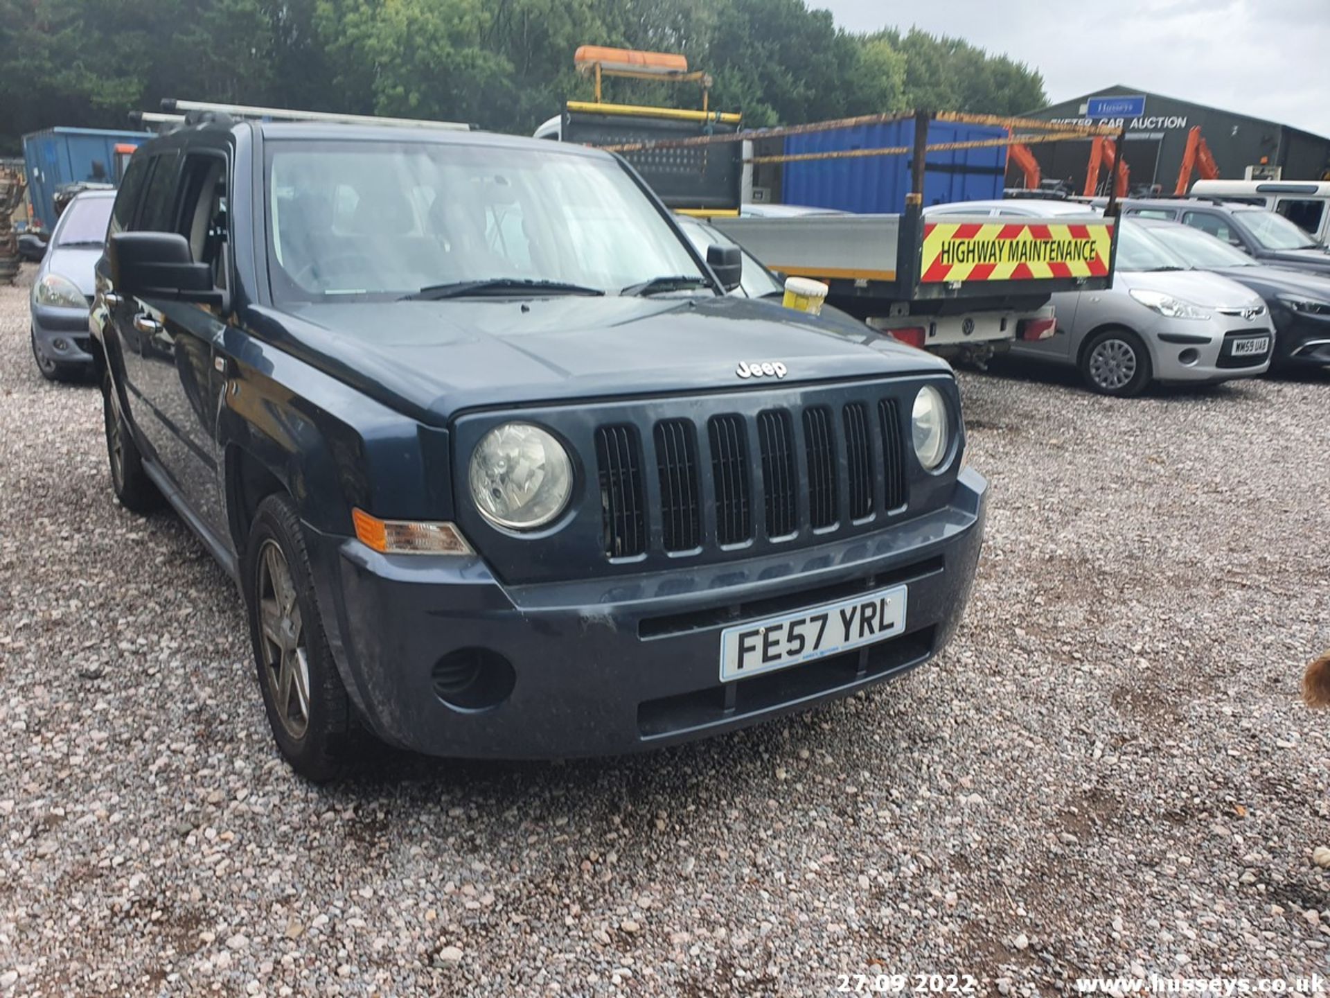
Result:
<instances>
[{"instance_id":1,"label":"windscreen of the dark blue Jeep","mask_svg":"<svg viewBox=\"0 0 1330 998\"><path fill-rule=\"evenodd\" d=\"M267 212L279 299L489 279L613 294L702 277L616 161L549 145L274 142Z\"/></svg>"}]
</instances>

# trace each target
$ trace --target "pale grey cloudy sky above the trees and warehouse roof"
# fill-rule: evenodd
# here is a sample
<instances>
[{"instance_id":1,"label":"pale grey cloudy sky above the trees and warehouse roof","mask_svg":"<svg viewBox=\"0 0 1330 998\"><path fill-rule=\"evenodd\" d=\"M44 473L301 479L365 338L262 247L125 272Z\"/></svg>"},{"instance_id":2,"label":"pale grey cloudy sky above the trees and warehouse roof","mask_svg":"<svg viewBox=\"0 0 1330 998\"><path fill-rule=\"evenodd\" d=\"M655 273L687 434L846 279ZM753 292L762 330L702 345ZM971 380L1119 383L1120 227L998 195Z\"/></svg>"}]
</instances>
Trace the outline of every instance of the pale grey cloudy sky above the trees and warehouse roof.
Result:
<instances>
[{"instance_id":1,"label":"pale grey cloudy sky above the trees and warehouse roof","mask_svg":"<svg viewBox=\"0 0 1330 998\"><path fill-rule=\"evenodd\" d=\"M809 0L851 31L1004 52L1049 101L1125 84L1330 136L1330 0Z\"/></svg>"}]
</instances>

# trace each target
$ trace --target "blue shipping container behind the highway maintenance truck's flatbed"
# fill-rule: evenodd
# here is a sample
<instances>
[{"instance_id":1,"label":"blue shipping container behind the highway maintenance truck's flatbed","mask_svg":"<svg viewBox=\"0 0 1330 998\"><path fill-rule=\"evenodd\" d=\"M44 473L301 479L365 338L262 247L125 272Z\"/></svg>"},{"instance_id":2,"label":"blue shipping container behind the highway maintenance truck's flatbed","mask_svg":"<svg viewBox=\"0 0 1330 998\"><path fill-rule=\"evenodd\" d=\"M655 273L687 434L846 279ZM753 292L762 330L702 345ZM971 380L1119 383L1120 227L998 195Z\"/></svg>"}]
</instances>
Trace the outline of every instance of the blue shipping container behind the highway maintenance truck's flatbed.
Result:
<instances>
[{"instance_id":1,"label":"blue shipping container behind the highway maintenance truck's flatbed","mask_svg":"<svg viewBox=\"0 0 1330 998\"><path fill-rule=\"evenodd\" d=\"M931 121L928 144L1005 138L1007 129ZM826 153L843 149L914 148L914 120L858 125L830 132L789 136L786 154ZM835 208L855 214L890 214L904 210L910 193L910 154L863 156L850 160L787 162L782 169L781 200L787 205ZM1007 174L1007 146L928 153L923 204L999 198Z\"/></svg>"}]
</instances>

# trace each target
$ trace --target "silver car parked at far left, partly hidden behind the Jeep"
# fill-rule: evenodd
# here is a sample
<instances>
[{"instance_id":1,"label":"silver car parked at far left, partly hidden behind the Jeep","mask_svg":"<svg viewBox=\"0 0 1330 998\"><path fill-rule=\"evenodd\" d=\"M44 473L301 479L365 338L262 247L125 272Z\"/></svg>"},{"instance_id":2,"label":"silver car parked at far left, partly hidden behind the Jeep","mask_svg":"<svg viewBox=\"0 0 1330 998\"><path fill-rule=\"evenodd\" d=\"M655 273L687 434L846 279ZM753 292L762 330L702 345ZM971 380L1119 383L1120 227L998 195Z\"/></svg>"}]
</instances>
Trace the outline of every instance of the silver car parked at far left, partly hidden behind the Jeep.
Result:
<instances>
[{"instance_id":1,"label":"silver car parked at far left, partly hidden behind the Jeep","mask_svg":"<svg viewBox=\"0 0 1330 998\"><path fill-rule=\"evenodd\" d=\"M56 222L37 269L31 299L32 355L48 381L70 381L93 369L88 307L114 200L114 190L74 197Z\"/></svg>"}]
</instances>

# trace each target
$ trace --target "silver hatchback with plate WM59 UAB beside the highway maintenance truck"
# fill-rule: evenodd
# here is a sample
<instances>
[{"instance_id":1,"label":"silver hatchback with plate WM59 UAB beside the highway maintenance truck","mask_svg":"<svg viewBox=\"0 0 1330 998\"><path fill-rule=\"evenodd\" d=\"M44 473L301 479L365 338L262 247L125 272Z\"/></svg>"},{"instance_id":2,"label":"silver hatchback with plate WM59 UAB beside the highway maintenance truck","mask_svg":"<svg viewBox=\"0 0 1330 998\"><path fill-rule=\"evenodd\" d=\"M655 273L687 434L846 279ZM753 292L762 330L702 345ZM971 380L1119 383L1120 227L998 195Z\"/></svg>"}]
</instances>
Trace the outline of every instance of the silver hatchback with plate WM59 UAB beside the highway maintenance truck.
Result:
<instances>
[{"instance_id":1,"label":"silver hatchback with plate WM59 UAB beside the highway maintenance truck","mask_svg":"<svg viewBox=\"0 0 1330 998\"><path fill-rule=\"evenodd\" d=\"M1214 383L1264 374L1274 327L1265 302L1220 274L1188 270L1138 224L1121 222L1107 291L1053 295L1057 335L1011 346L1011 357L1075 366L1105 395L1152 382Z\"/></svg>"}]
</instances>

